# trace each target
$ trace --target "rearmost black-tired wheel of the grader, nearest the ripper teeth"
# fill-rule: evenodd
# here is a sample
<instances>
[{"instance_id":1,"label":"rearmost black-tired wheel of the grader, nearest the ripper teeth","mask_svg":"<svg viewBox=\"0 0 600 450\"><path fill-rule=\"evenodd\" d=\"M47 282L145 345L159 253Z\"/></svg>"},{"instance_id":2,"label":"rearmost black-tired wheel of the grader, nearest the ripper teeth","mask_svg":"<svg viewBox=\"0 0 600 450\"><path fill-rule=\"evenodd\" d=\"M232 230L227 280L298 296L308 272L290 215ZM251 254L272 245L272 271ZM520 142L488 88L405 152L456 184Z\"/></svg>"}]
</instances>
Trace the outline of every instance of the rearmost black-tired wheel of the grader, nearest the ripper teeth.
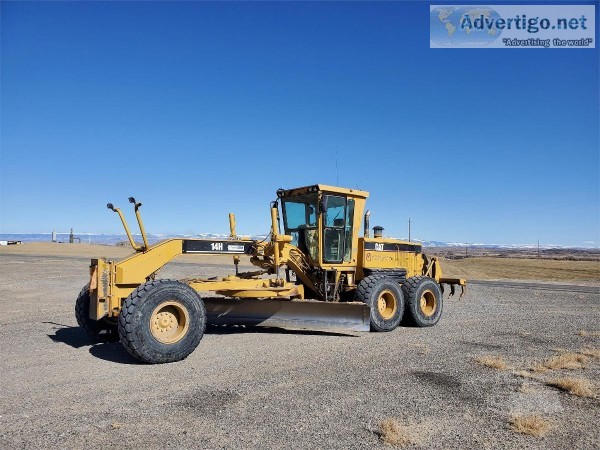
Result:
<instances>
[{"instance_id":1,"label":"rearmost black-tired wheel of the grader, nearest the ripper teeth","mask_svg":"<svg viewBox=\"0 0 600 450\"><path fill-rule=\"evenodd\" d=\"M406 299L407 325L431 327L442 316L443 297L439 284L429 277L412 277L402 283Z\"/></svg>"}]
</instances>

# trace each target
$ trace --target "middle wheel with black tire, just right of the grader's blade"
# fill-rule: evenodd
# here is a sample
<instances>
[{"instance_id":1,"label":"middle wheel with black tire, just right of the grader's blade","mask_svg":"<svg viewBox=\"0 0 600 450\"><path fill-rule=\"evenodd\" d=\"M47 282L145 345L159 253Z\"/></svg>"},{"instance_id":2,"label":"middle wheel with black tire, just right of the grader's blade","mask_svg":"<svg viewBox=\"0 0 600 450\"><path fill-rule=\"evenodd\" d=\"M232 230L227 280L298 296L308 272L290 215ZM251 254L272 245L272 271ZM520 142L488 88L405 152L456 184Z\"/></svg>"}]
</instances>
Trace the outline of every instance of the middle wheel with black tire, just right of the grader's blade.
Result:
<instances>
[{"instance_id":1,"label":"middle wheel with black tire, just right of the grader's blade","mask_svg":"<svg viewBox=\"0 0 600 450\"><path fill-rule=\"evenodd\" d=\"M369 305L372 331L392 331L400 324L404 296L394 279L377 275L363 278L356 288L356 299Z\"/></svg>"}]
</instances>

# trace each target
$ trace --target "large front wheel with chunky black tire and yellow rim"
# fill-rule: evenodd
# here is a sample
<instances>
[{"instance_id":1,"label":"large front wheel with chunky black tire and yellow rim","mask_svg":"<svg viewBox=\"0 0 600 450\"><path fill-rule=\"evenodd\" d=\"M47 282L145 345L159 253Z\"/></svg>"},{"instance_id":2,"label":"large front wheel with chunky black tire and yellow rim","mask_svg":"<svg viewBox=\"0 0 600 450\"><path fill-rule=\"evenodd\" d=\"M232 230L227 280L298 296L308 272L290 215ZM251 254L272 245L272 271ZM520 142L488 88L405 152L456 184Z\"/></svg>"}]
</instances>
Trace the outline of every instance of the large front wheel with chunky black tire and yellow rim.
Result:
<instances>
[{"instance_id":1,"label":"large front wheel with chunky black tire and yellow rim","mask_svg":"<svg viewBox=\"0 0 600 450\"><path fill-rule=\"evenodd\" d=\"M206 309L198 293L175 280L154 280L133 291L121 308L119 336L138 361L161 364L185 359L200 343Z\"/></svg>"}]
</instances>

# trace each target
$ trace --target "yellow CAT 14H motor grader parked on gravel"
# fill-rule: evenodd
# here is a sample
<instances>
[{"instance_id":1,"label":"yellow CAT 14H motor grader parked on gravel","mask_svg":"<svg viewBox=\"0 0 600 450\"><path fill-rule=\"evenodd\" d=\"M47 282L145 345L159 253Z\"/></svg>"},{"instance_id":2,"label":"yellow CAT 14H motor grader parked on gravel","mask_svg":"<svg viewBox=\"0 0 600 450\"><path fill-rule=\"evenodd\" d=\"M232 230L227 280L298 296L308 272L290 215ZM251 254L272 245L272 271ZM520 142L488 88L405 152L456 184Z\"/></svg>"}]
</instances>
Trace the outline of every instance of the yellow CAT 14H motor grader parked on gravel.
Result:
<instances>
[{"instance_id":1,"label":"yellow CAT 14H motor grader parked on gravel","mask_svg":"<svg viewBox=\"0 0 600 450\"><path fill-rule=\"evenodd\" d=\"M369 236L369 214L359 236L368 192L326 185L277 191L271 232L263 239L167 239L149 245L133 197L143 244L112 204L135 253L122 261L92 259L90 281L79 294L79 325L97 338L118 336L145 363L186 358L207 324L265 325L316 330L391 331L402 320L431 326L442 314L443 286L462 293L465 280L442 277L421 245ZM280 214L281 213L281 214ZM283 219L283 220L281 220ZM280 231L283 222L283 233ZM179 255L233 255L235 273L225 278L166 280L159 270ZM240 272L246 255L257 270ZM201 296L214 293L218 297ZM461 293L461 296L462 296Z\"/></svg>"}]
</instances>

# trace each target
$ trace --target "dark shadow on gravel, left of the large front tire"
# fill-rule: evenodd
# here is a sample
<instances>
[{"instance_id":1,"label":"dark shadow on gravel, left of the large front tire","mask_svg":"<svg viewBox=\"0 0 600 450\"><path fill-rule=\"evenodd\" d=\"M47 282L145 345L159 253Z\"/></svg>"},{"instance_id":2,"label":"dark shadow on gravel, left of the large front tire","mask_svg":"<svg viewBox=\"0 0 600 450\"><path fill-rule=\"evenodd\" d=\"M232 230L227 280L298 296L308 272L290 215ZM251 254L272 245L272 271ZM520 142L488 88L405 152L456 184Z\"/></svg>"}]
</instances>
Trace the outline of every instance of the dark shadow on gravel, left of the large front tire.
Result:
<instances>
[{"instance_id":1,"label":"dark shadow on gravel, left of the large front tire","mask_svg":"<svg viewBox=\"0 0 600 450\"><path fill-rule=\"evenodd\" d=\"M97 341L80 327L71 327L54 322L43 322L56 325L54 334L48 334L53 342L66 344L75 349L89 347L89 352L96 358L118 364L138 364L123 348L115 336L108 335L105 340Z\"/></svg>"}]
</instances>

